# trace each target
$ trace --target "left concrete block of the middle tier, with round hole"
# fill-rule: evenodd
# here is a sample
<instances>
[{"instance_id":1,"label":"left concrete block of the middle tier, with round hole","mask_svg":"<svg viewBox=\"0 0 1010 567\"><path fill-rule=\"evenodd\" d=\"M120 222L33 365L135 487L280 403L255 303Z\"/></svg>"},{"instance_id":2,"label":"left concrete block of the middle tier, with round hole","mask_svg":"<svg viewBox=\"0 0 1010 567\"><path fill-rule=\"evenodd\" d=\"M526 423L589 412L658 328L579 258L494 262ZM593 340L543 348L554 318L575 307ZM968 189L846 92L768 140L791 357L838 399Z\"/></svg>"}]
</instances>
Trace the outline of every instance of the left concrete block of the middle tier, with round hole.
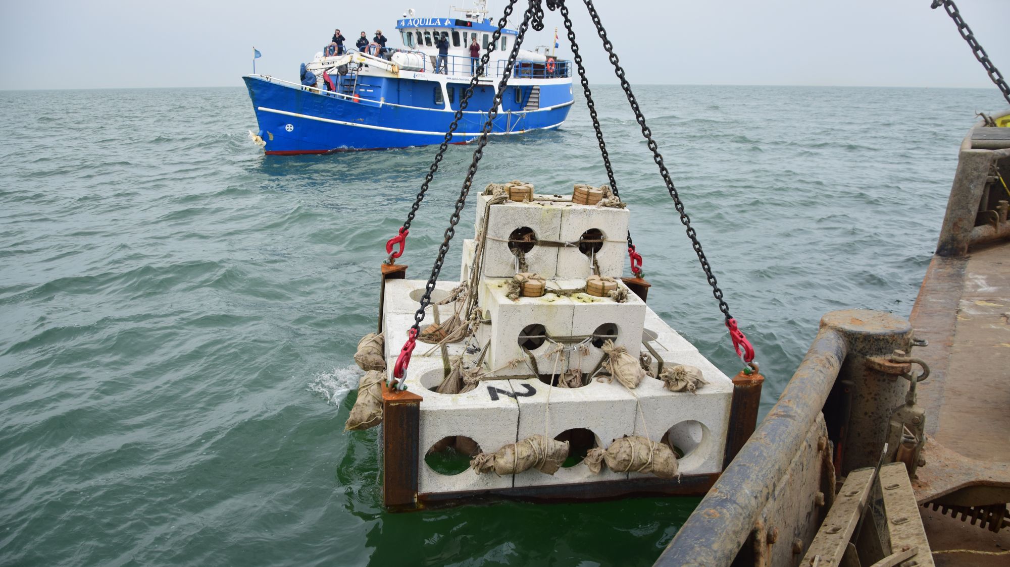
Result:
<instances>
[{"instance_id":1,"label":"left concrete block of the middle tier, with round hole","mask_svg":"<svg viewBox=\"0 0 1010 567\"><path fill-rule=\"evenodd\" d=\"M571 299L548 292L539 298L519 298L513 302L506 297L508 279L505 278L485 279L481 288L480 296L485 299L481 307L485 317L491 319L491 324L481 326L479 341L482 346L490 343L485 362L494 375L532 374L518 341L526 326L542 325L546 333L553 336L572 334L575 306ZM547 355L552 348L549 341L544 341L532 350L541 372L549 371L553 364L554 357ZM518 365L510 368L510 361L518 361Z\"/></svg>"}]
</instances>

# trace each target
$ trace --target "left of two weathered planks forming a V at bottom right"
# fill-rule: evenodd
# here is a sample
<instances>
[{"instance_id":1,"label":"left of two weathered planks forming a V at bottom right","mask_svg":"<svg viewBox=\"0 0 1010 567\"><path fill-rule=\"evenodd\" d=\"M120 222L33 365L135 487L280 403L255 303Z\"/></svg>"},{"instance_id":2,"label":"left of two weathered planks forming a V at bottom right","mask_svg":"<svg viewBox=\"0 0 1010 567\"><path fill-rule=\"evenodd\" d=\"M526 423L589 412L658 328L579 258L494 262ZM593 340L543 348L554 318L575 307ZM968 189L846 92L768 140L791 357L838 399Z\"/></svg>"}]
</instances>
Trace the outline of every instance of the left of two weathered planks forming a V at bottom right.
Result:
<instances>
[{"instance_id":1,"label":"left of two weathered planks forming a V at bottom right","mask_svg":"<svg viewBox=\"0 0 1010 567\"><path fill-rule=\"evenodd\" d=\"M803 556L801 565L834 567L841 563L852 534L860 526L870 493L877 478L877 470L861 468L849 473L834 504L821 524L813 543Z\"/></svg>"}]
</instances>

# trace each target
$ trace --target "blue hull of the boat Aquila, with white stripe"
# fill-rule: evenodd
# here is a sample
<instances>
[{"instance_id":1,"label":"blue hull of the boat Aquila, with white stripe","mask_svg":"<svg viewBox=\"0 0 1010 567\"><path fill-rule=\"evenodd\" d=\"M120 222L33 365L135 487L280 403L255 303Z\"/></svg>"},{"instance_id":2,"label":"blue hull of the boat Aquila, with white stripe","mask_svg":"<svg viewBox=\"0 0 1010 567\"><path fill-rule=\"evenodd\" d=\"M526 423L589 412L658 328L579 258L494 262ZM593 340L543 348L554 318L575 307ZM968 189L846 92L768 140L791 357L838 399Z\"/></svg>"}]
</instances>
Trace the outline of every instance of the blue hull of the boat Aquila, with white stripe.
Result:
<instances>
[{"instance_id":1,"label":"blue hull of the boat Aquila, with white stripe","mask_svg":"<svg viewBox=\"0 0 1010 567\"><path fill-rule=\"evenodd\" d=\"M242 78L268 154L293 155L437 144L445 137L454 112L317 92L261 76ZM491 87L493 88L493 87ZM386 99L388 101L388 99ZM493 133L515 134L553 129L568 117L571 83L540 85L538 110L504 111ZM487 109L474 108L460 121L452 143L478 137Z\"/></svg>"}]
</instances>

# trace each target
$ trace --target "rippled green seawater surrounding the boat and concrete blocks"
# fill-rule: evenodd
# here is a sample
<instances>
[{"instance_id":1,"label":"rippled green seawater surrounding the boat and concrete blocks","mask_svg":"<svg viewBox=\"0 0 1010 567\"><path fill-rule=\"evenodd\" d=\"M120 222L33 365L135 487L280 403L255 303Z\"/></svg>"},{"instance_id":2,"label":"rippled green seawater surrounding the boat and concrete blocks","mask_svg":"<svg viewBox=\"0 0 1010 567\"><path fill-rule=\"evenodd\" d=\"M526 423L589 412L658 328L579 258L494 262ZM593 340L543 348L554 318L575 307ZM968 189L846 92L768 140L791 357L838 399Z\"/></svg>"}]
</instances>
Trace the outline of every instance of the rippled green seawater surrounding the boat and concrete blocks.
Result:
<instances>
[{"instance_id":1,"label":"rippled green seawater surrounding the boat and concrete blocks","mask_svg":"<svg viewBox=\"0 0 1010 567\"><path fill-rule=\"evenodd\" d=\"M594 93L649 304L732 374L626 101ZM766 411L822 314L908 316L961 139L1005 104L995 89L636 94L755 345ZM434 148L266 157L237 88L2 92L0 117L0 564L649 565L697 504L383 511L378 431L342 433L351 355ZM430 271L473 150L446 153L411 276ZM604 182L581 98L560 131L491 141L475 185L512 179ZM461 235L473 218L471 202Z\"/></svg>"}]
</instances>

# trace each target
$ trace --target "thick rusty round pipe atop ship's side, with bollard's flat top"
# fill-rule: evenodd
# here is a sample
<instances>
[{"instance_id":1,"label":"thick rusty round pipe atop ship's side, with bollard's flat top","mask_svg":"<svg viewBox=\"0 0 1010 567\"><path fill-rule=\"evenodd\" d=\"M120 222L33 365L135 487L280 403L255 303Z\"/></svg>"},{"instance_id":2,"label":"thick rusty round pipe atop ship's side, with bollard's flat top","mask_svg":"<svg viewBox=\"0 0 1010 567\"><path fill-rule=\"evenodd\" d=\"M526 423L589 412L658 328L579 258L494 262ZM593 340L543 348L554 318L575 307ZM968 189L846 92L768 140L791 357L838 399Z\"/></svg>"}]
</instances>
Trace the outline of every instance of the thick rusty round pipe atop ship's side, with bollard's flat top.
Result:
<instances>
[{"instance_id":1,"label":"thick rusty round pipe atop ship's side, with bollard's flat top","mask_svg":"<svg viewBox=\"0 0 1010 567\"><path fill-rule=\"evenodd\" d=\"M861 361L886 354L898 340L910 344L911 338L908 322L887 313L849 310L825 315L778 404L655 564L729 565L803 445L836 379L858 378L839 376L843 362L855 367L853 373L865 372L867 366ZM856 445L862 450L870 440Z\"/></svg>"}]
</instances>

